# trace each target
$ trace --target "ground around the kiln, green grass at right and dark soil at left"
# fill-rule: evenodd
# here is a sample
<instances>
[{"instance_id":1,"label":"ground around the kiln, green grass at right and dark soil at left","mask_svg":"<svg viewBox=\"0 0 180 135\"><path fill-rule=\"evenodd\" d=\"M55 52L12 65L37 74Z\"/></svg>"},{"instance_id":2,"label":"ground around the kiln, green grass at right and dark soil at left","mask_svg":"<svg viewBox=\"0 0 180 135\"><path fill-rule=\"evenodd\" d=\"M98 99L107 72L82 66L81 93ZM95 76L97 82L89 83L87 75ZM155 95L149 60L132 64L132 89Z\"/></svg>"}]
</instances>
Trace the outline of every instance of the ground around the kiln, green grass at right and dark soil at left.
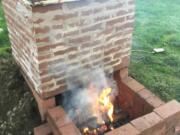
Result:
<instances>
[{"instance_id":1,"label":"ground around the kiln, green grass at right and dark soil at left","mask_svg":"<svg viewBox=\"0 0 180 135\"><path fill-rule=\"evenodd\" d=\"M1 0L0 0L1 1ZM130 75L163 100L180 101L180 1L136 0ZM11 56L0 4L0 134L28 135L40 123L37 107ZM164 53L153 54L153 48Z\"/></svg>"}]
</instances>

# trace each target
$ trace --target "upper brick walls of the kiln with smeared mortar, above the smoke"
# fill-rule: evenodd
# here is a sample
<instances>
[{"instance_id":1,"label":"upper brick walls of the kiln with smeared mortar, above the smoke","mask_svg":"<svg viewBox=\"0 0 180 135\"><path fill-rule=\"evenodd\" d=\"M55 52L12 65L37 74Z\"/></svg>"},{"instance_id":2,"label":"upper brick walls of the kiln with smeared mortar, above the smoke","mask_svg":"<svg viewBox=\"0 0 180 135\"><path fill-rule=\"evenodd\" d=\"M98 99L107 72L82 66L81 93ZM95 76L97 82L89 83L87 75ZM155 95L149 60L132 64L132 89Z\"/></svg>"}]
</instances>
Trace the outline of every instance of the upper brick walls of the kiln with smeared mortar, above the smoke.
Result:
<instances>
[{"instance_id":1,"label":"upper brick walls of the kiln with smeared mortar, above the smoke","mask_svg":"<svg viewBox=\"0 0 180 135\"><path fill-rule=\"evenodd\" d=\"M13 55L42 97L66 90L67 68L112 73L129 64L134 0L3 3Z\"/></svg>"}]
</instances>

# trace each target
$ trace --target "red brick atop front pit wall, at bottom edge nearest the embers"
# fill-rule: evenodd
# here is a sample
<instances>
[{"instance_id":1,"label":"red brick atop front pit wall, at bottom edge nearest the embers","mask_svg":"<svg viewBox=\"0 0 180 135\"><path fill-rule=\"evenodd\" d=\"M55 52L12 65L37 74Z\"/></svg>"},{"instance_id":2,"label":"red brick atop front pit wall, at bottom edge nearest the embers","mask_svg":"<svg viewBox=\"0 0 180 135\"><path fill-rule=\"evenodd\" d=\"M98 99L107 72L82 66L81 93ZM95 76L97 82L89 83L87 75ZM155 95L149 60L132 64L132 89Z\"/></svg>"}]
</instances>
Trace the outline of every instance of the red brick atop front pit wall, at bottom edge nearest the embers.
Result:
<instances>
[{"instance_id":1,"label":"red brick atop front pit wall, at bottom edge nearest the embers","mask_svg":"<svg viewBox=\"0 0 180 135\"><path fill-rule=\"evenodd\" d=\"M139 135L139 131L135 129L131 124L126 124L106 133L105 135Z\"/></svg>"}]
</instances>

